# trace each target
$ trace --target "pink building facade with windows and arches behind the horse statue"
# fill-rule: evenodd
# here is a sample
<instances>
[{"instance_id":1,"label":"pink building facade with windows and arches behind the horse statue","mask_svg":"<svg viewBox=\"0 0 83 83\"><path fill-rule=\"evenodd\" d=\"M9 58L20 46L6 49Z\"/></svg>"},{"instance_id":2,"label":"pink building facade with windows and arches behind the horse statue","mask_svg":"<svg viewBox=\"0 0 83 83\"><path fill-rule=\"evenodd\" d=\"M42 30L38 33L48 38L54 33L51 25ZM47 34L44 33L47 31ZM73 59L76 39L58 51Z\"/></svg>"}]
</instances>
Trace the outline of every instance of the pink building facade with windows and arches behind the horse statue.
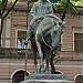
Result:
<instances>
[{"instance_id":1,"label":"pink building facade with windows and arches behind the horse statue","mask_svg":"<svg viewBox=\"0 0 83 83\"><path fill-rule=\"evenodd\" d=\"M80 9L83 11L83 8ZM0 83L20 83L24 80L25 55L22 54L21 49L25 49L23 44L25 35L27 12L11 11L3 24L2 51L0 51ZM61 52L54 59L56 71L65 74L66 80L83 83L83 15L66 14L61 43ZM18 54L14 49L18 50ZM28 49L31 49L31 43L29 43ZM15 58L12 56L13 54ZM55 62L56 59L59 62ZM27 61L27 74L30 73L34 73L32 58Z\"/></svg>"}]
</instances>

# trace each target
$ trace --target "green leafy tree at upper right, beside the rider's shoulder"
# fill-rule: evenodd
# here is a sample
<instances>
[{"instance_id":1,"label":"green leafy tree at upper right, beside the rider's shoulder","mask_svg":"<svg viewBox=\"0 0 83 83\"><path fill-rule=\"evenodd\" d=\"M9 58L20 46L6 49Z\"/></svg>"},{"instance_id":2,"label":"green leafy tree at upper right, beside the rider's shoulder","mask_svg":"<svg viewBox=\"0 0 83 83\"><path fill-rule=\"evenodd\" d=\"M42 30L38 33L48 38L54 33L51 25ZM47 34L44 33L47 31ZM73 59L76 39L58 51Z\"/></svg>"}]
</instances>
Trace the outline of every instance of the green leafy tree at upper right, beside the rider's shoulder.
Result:
<instances>
[{"instance_id":1,"label":"green leafy tree at upper right, beside the rider's shoulder","mask_svg":"<svg viewBox=\"0 0 83 83\"><path fill-rule=\"evenodd\" d=\"M77 11L76 6L83 7L83 0L56 0L53 3L53 8L55 11L59 11L59 10L63 11L61 14L62 21L64 20L65 14L69 12L74 15L83 14Z\"/></svg>"}]
</instances>

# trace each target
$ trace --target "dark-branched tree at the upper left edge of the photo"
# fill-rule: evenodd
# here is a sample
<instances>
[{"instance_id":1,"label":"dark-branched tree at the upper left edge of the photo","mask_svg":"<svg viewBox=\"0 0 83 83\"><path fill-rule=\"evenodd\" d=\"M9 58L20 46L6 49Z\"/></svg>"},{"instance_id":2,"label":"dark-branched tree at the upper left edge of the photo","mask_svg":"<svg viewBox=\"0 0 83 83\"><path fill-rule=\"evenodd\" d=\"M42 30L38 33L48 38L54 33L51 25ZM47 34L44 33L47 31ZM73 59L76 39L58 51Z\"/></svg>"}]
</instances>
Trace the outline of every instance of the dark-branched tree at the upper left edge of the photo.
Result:
<instances>
[{"instance_id":1,"label":"dark-branched tree at the upper left edge of the photo","mask_svg":"<svg viewBox=\"0 0 83 83\"><path fill-rule=\"evenodd\" d=\"M12 2L12 6L7 12L4 12L9 1ZM1 34L3 29L3 20L9 14L9 12L13 9L17 2L18 0L0 0L0 48L1 48Z\"/></svg>"}]
</instances>

